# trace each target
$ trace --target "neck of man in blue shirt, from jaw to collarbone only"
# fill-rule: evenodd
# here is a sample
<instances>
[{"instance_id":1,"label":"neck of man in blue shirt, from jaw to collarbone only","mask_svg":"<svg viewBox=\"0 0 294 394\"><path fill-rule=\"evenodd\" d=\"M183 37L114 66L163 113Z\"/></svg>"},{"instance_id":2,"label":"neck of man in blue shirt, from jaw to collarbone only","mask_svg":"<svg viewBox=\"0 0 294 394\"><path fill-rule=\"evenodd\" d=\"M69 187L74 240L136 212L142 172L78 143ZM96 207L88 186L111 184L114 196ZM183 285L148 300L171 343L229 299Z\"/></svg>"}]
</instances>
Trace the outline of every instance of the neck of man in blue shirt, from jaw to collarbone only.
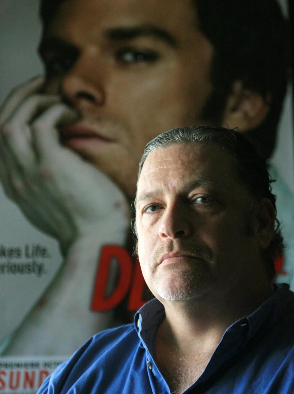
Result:
<instances>
[{"instance_id":1,"label":"neck of man in blue shirt, from jaw to collarbone only","mask_svg":"<svg viewBox=\"0 0 294 394\"><path fill-rule=\"evenodd\" d=\"M244 283L243 288L238 286L231 292L214 289L188 301L160 300L165 307L165 319L158 332L171 345L185 346L196 337L202 338L203 344L215 342L231 324L253 313L271 294L271 284L261 282L255 290ZM190 348L189 343L187 346Z\"/></svg>"}]
</instances>

